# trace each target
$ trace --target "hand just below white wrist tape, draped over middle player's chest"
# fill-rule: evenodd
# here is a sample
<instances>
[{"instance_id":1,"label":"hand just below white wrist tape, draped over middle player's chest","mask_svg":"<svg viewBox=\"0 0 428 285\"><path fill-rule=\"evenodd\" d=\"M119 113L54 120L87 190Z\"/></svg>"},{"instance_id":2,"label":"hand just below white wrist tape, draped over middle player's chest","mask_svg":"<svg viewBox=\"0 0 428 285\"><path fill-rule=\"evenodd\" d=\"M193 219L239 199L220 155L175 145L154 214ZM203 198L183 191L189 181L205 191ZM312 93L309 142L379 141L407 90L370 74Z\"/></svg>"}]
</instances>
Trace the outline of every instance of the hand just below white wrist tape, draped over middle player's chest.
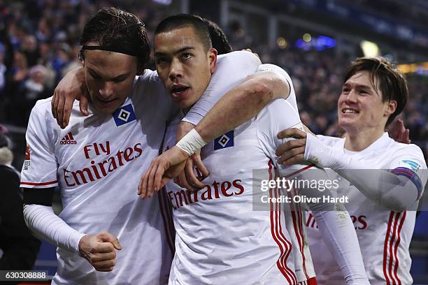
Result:
<instances>
[{"instance_id":1,"label":"hand just below white wrist tape, draped over middle player's chest","mask_svg":"<svg viewBox=\"0 0 428 285\"><path fill-rule=\"evenodd\" d=\"M177 177L185 167L189 156L178 147L172 147L152 160L150 167L141 177L138 185L138 195L141 198L150 198L155 191L159 191L169 180Z\"/></svg>"}]
</instances>

